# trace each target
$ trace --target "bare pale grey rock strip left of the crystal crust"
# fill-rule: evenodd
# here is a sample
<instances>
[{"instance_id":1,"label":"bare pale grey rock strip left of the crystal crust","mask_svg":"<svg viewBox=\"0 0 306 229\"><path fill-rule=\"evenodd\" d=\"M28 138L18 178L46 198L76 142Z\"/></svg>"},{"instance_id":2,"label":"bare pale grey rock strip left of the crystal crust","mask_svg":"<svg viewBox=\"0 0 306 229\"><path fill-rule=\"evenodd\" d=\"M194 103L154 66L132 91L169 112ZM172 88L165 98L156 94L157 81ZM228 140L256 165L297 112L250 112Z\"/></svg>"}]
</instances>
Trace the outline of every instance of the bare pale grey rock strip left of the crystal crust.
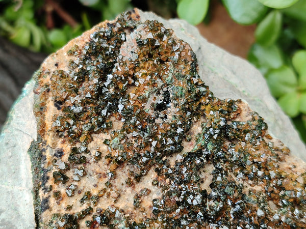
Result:
<instances>
[{"instance_id":1,"label":"bare pale grey rock strip left of the crystal crust","mask_svg":"<svg viewBox=\"0 0 306 229\"><path fill-rule=\"evenodd\" d=\"M36 225L28 154L31 142L37 139L33 89L31 79L14 103L0 135L0 228L35 228Z\"/></svg>"}]
</instances>

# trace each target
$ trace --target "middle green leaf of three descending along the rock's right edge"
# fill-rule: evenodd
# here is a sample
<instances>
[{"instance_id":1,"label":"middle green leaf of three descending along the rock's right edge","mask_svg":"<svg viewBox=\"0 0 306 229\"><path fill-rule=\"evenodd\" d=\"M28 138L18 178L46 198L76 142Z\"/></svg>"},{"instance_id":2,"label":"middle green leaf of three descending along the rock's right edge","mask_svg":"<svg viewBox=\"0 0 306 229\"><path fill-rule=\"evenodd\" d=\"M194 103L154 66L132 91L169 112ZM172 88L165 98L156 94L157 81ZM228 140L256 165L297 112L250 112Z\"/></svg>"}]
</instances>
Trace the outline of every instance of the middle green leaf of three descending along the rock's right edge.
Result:
<instances>
[{"instance_id":1,"label":"middle green leaf of three descending along the rock's right edge","mask_svg":"<svg viewBox=\"0 0 306 229\"><path fill-rule=\"evenodd\" d=\"M270 91L276 98L296 90L296 76L293 70L285 65L278 69L272 69L266 77Z\"/></svg>"}]
</instances>

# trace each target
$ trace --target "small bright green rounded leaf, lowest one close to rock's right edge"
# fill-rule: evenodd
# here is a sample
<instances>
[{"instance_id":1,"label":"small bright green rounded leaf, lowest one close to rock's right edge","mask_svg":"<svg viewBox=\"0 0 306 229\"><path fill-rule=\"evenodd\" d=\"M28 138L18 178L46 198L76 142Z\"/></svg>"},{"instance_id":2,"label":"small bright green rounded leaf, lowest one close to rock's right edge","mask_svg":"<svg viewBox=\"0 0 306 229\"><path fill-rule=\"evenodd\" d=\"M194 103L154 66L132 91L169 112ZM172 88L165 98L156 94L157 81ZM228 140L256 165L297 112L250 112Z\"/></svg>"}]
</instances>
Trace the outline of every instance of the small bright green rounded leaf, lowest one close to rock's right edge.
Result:
<instances>
[{"instance_id":1,"label":"small bright green rounded leaf, lowest one close to rock's right edge","mask_svg":"<svg viewBox=\"0 0 306 229\"><path fill-rule=\"evenodd\" d=\"M288 116L294 118L299 114L300 96L297 92L285 94L278 99L278 104Z\"/></svg>"}]
</instances>

